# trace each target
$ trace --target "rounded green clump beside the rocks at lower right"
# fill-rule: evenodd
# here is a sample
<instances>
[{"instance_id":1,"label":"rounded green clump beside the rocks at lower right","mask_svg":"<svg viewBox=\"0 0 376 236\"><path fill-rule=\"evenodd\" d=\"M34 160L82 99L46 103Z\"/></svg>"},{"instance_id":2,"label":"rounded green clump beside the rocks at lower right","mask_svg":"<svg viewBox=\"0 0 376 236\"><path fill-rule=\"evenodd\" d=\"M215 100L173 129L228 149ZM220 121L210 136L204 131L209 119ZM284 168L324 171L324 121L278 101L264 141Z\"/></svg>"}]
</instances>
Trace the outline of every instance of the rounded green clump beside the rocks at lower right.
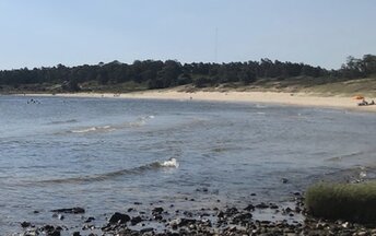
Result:
<instances>
[{"instance_id":1,"label":"rounded green clump beside the rocks at lower right","mask_svg":"<svg viewBox=\"0 0 376 236\"><path fill-rule=\"evenodd\" d=\"M375 223L376 181L314 185L306 191L305 205L316 217Z\"/></svg>"}]
</instances>

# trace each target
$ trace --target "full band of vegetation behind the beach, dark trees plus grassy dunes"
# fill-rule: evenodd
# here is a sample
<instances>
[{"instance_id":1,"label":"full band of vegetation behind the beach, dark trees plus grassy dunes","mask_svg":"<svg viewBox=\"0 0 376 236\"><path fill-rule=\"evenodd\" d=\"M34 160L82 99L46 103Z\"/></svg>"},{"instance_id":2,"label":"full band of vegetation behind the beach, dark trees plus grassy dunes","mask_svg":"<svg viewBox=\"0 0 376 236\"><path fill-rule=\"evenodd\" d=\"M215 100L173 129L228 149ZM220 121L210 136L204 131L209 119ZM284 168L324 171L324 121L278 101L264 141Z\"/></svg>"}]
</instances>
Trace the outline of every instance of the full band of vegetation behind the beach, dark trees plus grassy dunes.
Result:
<instances>
[{"instance_id":1,"label":"full band of vegetation behind the beach, dark trees plus grassy dunes","mask_svg":"<svg viewBox=\"0 0 376 236\"><path fill-rule=\"evenodd\" d=\"M130 92L179 85L207 87L248 87L294 92L327 84L341 85L364 78L374 81L376 56L349 57L339 70L305 63L260 61L230 63L185 63L175 60L113 61L94 66L24 68L0 71L0 92ZM346 84L342 84L346 86ZM366 86L369 88L369 86ZM325 88L324 88L325 90ZM376 87L373 87L374 92ZM318 87L317 91L320 91ZM315 92L315 91L313 91ZM353 92L353 90L352 90ZM363 91L361 91L363 92ZM373 92L373 91L371 91Z\"/></svg>"}]
</instances>

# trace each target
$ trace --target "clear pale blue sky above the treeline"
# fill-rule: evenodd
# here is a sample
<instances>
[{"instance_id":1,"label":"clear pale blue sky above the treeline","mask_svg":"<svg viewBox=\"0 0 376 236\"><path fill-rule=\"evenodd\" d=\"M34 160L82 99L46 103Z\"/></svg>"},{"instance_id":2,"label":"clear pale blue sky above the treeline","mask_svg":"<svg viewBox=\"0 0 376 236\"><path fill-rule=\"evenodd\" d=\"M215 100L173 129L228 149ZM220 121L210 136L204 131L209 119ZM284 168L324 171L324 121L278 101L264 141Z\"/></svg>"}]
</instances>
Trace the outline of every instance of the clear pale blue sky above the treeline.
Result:
<instances>
[{"instance_id":1,"label":"clear pale blue sky above the treeline","mask_svg":"<svg viewBox=\"0 0 376 236\"><path fill-rule=\"evenodd\" d=\"M376 55L375 0L0 0L0 70Z\"/></svg>"}]
</instances>

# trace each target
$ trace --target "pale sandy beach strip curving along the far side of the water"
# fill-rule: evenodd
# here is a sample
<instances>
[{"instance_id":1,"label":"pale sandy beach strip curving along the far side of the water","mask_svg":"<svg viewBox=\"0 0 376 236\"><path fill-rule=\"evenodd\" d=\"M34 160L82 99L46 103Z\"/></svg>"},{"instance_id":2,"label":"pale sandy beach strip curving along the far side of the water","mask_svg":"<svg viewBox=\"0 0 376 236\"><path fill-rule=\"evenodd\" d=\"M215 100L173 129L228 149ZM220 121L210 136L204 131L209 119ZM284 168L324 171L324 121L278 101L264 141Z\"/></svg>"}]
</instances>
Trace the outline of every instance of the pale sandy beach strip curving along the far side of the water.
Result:
<instances>
[{"instance_id":1,"label":"pale sandy beach strip curving along the far side of the water","mask_svg":"<svg viewBox=\"0 0 376 236\"><path fill-rule=\"evenodd\" d=\"M181 92L178 90L152 90L132 93L59 93L59 94L22 94L26 96L62 96L62 97L107 97L107 98L144 98L144 99L175 99L175 101L213 101L232 103L266 103L303 107L339 108L356 111L376 111L376 105L357 106L361 101L352 96L324 96L308 93L283 92ZM367 97L368 102L375 99Z\"/></svg>"}]
</instances>

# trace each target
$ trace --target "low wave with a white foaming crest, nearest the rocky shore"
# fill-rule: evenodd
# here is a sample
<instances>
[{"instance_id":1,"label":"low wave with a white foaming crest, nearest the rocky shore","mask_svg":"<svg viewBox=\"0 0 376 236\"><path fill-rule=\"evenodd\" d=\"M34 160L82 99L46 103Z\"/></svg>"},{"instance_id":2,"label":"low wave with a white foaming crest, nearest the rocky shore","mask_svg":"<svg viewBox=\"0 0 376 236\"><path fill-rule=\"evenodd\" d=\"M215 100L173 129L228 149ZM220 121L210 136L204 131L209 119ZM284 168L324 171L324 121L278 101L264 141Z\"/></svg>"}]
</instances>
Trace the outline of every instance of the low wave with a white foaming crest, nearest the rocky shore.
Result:
<instances>
[{"instance_id":1,"label":"low wave with a white foaming crest, nearest the rocky shore","mask_svg":"<svg viewBox=\"0 0 376 236\"><path fill-rule=\"evenodd\" d=\"M110 180L120 176L142 175L151 170L158 170L163 168L178 168L178 167L179 167L179 163L177 162L177 160L169 158L167 161L153 162L153 163L149 163L149 164L138 166L134 168L126 168L126 169L120 169L116 172L109 172L109 173L90 175L90 176L79 176L79 177L62 178L62 179L48 179L48 180L42 180L37 182L38 184L82 184L82 182L90 184L90 182L95 182L95 181Z\"/></svg>"}]
</instances>

